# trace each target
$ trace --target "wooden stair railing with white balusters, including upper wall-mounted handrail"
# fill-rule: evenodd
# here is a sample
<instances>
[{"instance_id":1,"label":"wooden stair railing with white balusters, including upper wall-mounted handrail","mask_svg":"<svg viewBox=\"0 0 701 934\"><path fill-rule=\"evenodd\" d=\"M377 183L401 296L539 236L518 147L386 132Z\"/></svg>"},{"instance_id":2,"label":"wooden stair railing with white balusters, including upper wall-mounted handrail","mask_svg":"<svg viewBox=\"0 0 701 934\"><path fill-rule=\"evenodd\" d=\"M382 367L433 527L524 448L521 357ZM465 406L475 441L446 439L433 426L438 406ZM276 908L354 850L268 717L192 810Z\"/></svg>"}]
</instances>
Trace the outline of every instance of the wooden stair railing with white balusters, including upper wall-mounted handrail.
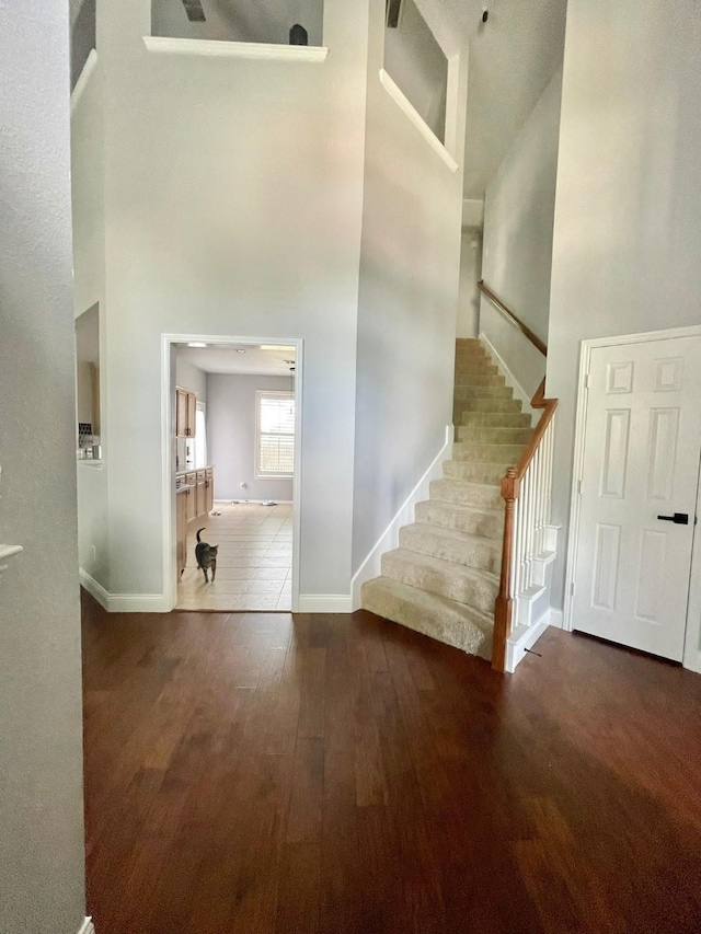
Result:
<instances>
[{"instance_id":1,"label":"wooden stair railing with white balusters, including upper wall-mounted handrail","mask_svg":"<svg viewBox=\"0 0 701 934\"><path fill-rule=\"evenodd\" d=\"M508 309L484 282L480 291L548 356L548 347ZM514 618L518 619L519 599L527 598L542 585L540 568L550 545L550 508L552 493L554 415L556 399L545 399L545 380L531 399L531 407L542 410L533 435L520 460L506 471L502 480L504 499L504 540L499 592L494 604L494 643L492 667L506 670L506 649ZM541 565L542 566L542 565Z\"/></svg>"}]
</instances>

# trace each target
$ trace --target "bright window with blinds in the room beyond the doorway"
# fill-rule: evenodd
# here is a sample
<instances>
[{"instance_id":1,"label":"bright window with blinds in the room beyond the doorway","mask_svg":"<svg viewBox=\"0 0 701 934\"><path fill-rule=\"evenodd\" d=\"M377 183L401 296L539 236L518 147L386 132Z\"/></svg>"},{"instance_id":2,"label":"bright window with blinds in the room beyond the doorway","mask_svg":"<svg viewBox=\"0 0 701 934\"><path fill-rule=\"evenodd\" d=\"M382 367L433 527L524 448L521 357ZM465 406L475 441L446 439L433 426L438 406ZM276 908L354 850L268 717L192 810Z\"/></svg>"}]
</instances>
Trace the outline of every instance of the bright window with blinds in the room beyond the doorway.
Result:
<instances>
[{"instance_id":1,"label":"bright window with blinds in the room beyond the doorway","mask_svg":"<svg viewBox=\"0 0 701 934\"><path fill-rule=\"evenodd\" d=\"M291 392L255 393L255 475L292 476L295 473L295 395Z\"/></svg>"}]
</instances>

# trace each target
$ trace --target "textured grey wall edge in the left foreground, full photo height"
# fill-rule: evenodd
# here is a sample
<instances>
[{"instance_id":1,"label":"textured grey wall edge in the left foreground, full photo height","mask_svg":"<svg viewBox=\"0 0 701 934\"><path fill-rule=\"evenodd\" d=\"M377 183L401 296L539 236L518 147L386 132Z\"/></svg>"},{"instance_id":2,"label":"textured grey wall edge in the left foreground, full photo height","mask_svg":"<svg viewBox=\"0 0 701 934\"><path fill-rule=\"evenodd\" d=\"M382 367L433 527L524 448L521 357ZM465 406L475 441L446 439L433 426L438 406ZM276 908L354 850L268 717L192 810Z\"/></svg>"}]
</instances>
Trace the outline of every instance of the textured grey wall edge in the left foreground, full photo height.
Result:
<instances>
[{"instance_id":1,"label":"textured grey wall edge in the left foreground, full photo height","mask_svg":"<svg viewBox=\"0 0 701 934\"><path fill-rule=\"evenodd\" d=\"M39 27L41 24L41 27ZM0 2L0 931L84 918L68 7Z\"/></svg>"}]
</instances>

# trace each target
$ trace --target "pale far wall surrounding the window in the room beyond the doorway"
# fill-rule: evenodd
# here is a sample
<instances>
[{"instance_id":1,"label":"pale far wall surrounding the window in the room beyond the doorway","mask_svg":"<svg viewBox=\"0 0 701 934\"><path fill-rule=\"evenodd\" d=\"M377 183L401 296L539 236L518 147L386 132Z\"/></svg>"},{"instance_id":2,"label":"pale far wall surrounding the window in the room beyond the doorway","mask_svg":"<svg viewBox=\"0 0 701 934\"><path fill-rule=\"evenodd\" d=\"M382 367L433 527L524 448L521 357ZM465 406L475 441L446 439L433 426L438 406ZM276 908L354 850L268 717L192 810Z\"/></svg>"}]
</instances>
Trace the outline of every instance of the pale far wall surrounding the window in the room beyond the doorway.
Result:
<instances>
[{"instance_id":1,"label":"pale far wall surrounding the window in the room beyond the doorway","mask_svg":"<svg viewBox=\"0 0 701 934\"><path fill-rule=\"evenodd\" d=\"M209 374L207 445L217 499L291 501L292 481L255 476L256 390L289 392L287 377ZM245 483L245 489L240 484Z\"/></svg>"}]
</instances>

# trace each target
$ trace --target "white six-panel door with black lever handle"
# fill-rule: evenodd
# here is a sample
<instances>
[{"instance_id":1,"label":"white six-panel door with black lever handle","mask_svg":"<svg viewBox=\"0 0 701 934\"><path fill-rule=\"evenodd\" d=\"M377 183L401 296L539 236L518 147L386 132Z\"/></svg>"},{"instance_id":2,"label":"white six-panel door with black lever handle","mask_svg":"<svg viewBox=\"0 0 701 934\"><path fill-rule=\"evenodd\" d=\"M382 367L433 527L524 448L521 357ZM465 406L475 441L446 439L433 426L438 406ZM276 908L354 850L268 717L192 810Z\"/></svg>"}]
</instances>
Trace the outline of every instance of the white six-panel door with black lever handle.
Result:
<instances>
[{"instance_id":1,"label":"white six-panel door with black lever handle","mask_svg":"<svg viewBox=\"0 0 701 934\"><path fill-rule=\"evenodd\" d=\"M589 359L572 624L680 661L701 454L701 337L597 347ZM677 521L658 518L675 514Z\"/></svg>"}]
</instances>

